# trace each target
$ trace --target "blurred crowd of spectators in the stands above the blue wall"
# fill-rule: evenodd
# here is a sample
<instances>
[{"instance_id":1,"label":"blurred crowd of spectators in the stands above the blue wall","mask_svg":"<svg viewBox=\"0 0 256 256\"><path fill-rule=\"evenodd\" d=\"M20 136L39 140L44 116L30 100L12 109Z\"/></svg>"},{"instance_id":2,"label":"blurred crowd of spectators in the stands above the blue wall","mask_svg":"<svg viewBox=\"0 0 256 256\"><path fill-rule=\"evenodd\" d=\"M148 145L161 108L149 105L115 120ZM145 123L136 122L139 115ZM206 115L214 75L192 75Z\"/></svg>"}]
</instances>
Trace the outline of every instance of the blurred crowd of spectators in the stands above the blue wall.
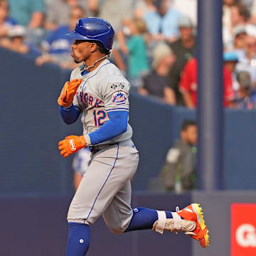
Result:
<instances>
[{"instance_id":1,"label":"blurred crowd of spectators in the stands above the blue wall","mask_svg":"<svg viewBox=\"0 0 256 256\"><path fill-rule=\"evenodd\" d=\"M85 16L112 24L110 58L134 92L196 108L197 0L0 0L0 46L76 68L64 35ZM224 106L255 108L256 0L223 0L223 50Z\"/></svg>"}]
</instances>

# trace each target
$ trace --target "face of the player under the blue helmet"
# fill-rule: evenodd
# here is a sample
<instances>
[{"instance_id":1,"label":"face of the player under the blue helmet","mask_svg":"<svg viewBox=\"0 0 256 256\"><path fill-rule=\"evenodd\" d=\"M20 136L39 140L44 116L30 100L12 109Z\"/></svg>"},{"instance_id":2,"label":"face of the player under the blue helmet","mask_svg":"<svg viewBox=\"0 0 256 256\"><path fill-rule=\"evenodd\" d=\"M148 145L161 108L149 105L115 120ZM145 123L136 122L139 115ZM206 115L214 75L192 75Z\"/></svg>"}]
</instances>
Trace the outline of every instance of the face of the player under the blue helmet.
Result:
<instances>
[{"instance_id":1,"label":"face of the player under the blue helmet","mask_svg":"<svg viewBox=\"0 0 256 256\"><path fill-rule=\"evenodd\" d=\"M82 40L75 40L71 46L71 56L74 58L75 63L80 63L82 60L90 58L93 44Z\"/></svg>"}]
</instances>

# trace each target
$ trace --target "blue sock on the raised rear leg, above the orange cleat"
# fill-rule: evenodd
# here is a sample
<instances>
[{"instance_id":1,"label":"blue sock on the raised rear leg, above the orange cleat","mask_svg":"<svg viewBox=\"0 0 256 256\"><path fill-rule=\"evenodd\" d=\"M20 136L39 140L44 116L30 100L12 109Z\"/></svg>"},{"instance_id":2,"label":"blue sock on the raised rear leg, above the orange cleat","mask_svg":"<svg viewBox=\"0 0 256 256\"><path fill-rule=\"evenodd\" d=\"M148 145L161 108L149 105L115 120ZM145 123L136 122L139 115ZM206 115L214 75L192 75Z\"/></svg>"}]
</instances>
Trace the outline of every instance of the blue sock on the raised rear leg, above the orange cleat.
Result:
<instances>
[{"instance_id":1,"label":"blue sock on the raised rear leg, above the orange cleat","mask_svg":"<svg viewBox=\"0 0 256 256\"><path fill-rule=\"evenodd\" d=\"M125 232L129 232L132 230L146 230L151 229L156 220L158 220L158 215L156 210L149 208L134 208L132 220L129 223L129 227ZM166 218L173 218L171 212L166 211Z\"/></svg>"}]
</instances>

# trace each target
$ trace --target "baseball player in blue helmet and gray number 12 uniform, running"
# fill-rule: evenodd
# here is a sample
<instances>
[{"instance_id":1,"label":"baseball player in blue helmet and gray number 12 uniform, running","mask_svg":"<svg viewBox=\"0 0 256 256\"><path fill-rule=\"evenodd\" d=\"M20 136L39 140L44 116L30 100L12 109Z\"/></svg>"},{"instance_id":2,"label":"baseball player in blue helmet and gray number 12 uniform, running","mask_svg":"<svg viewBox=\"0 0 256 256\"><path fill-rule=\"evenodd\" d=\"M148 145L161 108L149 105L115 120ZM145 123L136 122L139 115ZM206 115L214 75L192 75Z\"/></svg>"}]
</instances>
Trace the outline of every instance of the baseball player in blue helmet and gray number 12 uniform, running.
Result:
<instances>
[{"instance_id":1,"label":"baseball player in blue helmet and gray number 12 uniform, running","mask_svg":"<svg viewBox=\"0 0 256 256\"><path fill-rule=\"evenodd\" d=\"M100 215L116 234L152 229L163 234L183 231L209 245L208 230L199 204L176 211L131 208L131 183L139 153L132 142L128 123L129 82L107 60L114 30L102 18L81 18L75 31L66 34L75 41L71 55L75 63L70 82L65 82L58 98L60 114L66 124L80 116L81 136L71 135L59 142L64 157L82 148L91 151L90 165L82 177L68 210L67 256L84 256L90 245L90 226Z\"/></svg>"}]
</instances>

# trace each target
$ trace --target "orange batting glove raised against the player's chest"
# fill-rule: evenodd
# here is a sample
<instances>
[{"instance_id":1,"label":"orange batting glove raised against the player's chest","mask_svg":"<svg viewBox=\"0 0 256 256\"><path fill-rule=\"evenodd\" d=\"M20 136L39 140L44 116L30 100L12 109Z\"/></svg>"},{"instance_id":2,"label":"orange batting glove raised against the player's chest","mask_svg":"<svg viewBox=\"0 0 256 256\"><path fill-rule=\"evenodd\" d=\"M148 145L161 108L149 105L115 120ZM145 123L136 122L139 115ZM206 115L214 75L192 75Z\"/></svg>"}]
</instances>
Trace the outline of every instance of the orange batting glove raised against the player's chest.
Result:
<instances>
[{"instance_id":1,"label":"orange batting glove raised against the player's chest","mask_svg":"<svg viewBox=\"0 0 256 256\"><path fill-rule=\"evenodd\" d=\"M75 92L78 90L78 86L81 82L82 79L78 80L77 78L70 82L65 82L63 90L60 92L60 97L58 97L58 105L62 107L70 107L73 102Z\"/></svg>"}]
</instances>

